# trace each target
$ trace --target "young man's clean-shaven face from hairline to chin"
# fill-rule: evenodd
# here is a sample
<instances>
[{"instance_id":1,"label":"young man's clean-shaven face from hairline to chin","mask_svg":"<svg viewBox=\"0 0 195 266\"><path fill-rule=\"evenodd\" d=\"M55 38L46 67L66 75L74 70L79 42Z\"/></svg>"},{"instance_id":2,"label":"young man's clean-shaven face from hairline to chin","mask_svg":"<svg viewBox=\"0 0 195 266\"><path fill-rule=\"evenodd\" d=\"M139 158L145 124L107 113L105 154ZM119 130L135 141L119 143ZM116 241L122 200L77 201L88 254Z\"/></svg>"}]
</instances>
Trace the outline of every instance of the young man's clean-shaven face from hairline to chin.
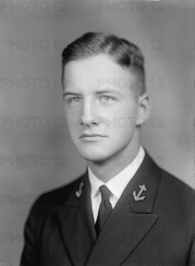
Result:
<instances>
[{"instance_id":1,"label":"young man's clean-shaven face from hairline to chin","mask_svg":"<svg viewBox=\"0 0 195 266\"><path fill-rule=\"evenodd\" d=\"M64 78L67 125L77 152L89 161L123 156L136 133L138 104L130 88L135 77L102 54L69 62Z\"/></svg>"}]
</instances>

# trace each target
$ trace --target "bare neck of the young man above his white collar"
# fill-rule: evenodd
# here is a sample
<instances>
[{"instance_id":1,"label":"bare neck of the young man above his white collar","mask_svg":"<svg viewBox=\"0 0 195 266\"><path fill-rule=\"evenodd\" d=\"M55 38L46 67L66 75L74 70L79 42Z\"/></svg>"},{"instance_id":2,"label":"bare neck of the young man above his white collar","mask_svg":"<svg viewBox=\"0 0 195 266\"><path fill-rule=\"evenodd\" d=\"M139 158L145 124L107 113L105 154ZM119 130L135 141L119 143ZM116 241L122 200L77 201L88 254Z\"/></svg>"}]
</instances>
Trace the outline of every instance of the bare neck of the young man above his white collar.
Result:
<instances>
[{"instance_id":1,"label":"bare neck of the young man above his white collar","mask_svg":"<svg viewBox=\"0 0 195 266\"><path fill-rule=\"evenodd\" d=\"M131 141L131 145L127 145L118 153L108 157L108 159L103 162L90 161L89 166L92 173L104 183L115 177L130 163L132 163L134 158L137 156L140 147L139 136L138 140L139 141L133 142L133 144Z\"/></svg>"}]
</instances>

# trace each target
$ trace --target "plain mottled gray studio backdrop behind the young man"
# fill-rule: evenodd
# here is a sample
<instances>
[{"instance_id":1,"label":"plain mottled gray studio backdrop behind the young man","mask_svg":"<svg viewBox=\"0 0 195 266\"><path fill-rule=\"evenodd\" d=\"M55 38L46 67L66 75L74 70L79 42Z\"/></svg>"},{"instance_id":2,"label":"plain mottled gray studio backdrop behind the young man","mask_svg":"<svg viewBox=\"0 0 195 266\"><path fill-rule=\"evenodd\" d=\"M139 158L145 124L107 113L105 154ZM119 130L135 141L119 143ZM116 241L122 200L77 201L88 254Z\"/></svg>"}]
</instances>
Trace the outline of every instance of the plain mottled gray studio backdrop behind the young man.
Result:
<instances>
[{"instance_id":1,"label":"plain mottled gray studio backdrop behind the young man","mask_svg":"<svg viewBox=\"0 0 195 266\"><path fill-rule=\"evenodd\" d=\"M145 56L152 112L143 145L185 183L193 181L193 1L1 1L1 265L18 265L23 228L42 192L86 170L65 127L62 49L108 31Z\"/></svg>"}]
</instances>

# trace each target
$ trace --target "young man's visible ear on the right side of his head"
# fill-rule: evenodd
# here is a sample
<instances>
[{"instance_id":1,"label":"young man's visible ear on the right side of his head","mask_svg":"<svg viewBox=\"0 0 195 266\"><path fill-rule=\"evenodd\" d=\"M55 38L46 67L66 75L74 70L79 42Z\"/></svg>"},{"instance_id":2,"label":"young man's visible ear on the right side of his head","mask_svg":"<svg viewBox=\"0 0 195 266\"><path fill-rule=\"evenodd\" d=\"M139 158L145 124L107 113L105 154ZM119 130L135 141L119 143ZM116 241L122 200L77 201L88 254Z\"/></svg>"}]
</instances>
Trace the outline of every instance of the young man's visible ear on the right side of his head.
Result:
<instances>
[{"instance_id":1,"label":"young man's visible ear on the right side of his head","mask_svg":"<svg viewBox=\"0 0 195 266\"><path fill-rule=\"evenodd\" d=\"M137 126L143 127L151 112L151 100L147 93L144 93L138 98L138 115Z\"/></svg>"}]
</instances>

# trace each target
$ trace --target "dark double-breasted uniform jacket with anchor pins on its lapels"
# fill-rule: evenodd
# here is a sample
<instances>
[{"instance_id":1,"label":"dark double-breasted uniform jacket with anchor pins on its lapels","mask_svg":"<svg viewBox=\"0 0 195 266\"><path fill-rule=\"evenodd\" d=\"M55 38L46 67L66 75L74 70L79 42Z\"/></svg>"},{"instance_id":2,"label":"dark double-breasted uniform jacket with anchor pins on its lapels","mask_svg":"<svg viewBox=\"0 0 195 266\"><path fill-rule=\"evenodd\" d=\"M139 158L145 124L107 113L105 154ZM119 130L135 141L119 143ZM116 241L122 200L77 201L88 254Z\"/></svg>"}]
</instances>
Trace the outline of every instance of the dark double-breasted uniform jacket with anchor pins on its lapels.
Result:
<instances>
[{"instance_id":1,"label":"dark double-breasted uniform jacket with anchor pins on its lapels","mask_svg":"<svg viewBox=\"0 0 195 266\"><path fill-rule=\"evenodd\" d=\"M88 173L40 196L20 265L194 266L194 210L194 190L146 153L98 237Z\"/></svg>"}]
</instances>

